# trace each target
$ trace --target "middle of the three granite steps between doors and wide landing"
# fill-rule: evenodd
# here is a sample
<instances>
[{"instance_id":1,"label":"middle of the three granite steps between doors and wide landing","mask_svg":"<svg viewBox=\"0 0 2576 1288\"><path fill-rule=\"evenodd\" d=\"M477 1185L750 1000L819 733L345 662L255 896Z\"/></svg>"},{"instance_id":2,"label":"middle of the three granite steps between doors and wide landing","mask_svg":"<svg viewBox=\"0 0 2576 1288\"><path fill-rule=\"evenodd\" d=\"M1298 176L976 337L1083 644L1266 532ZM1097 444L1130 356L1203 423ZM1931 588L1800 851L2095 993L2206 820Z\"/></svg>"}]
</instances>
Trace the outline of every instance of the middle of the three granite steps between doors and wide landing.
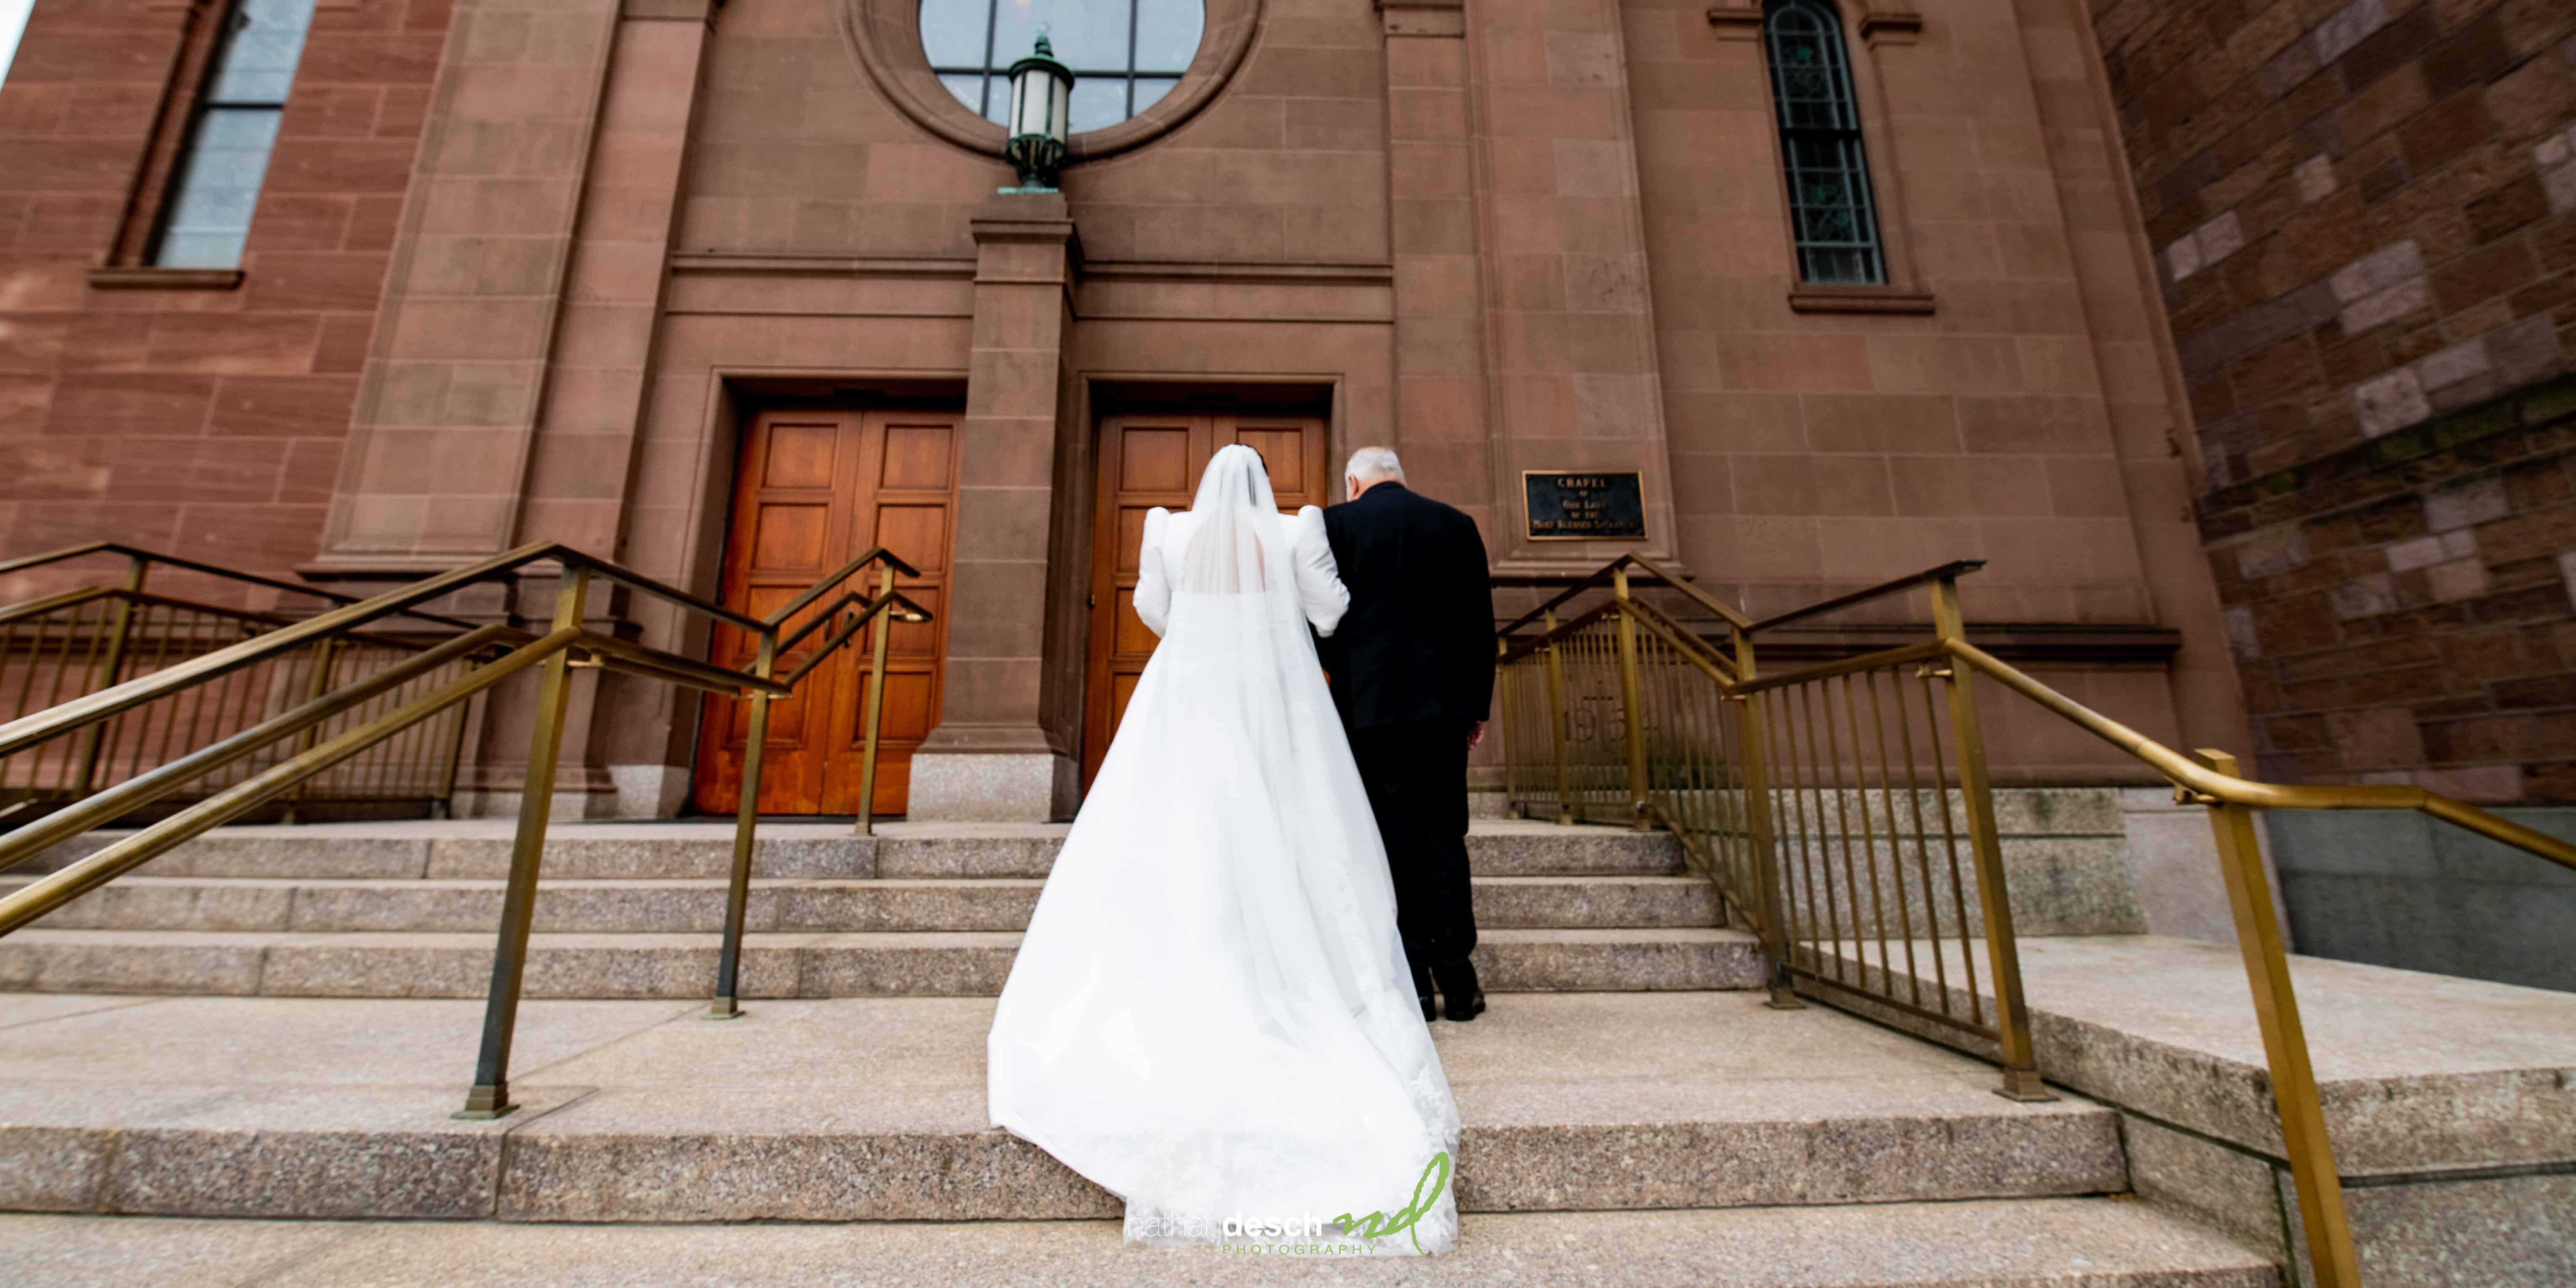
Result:
<instances>
[{"instance_id":1,"label":"middle of the three granite steps between doors and wide landing","mask_svg":"<svg viewBox=\"0 0 2576 1288\"><path fill-rule=\"evenodd\" d=\"M33 876L0 876L0 894ZM744 927L752 933L848 930L1025 930L1043 881L873 878L752 881ZM39 922L44 930L492 930L500 881L332 881L126 876ZM716 933L726 884L544 881L536 930L549 933ZM1476 925L1515 927L1672 927L1721 925L1716 889L1698 876L1481 876Z\"/></svg>"}]
</instances>

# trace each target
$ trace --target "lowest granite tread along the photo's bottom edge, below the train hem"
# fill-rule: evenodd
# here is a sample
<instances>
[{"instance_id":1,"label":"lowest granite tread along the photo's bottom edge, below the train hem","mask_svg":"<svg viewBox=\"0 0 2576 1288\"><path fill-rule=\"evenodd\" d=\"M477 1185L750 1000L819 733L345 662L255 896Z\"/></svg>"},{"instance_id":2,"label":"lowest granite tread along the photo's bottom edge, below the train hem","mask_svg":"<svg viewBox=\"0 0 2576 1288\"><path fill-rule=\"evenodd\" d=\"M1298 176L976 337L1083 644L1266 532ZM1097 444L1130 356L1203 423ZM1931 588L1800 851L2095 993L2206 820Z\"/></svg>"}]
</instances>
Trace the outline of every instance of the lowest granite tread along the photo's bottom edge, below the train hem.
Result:
<instances>
[{"instance_id":1,"label":"lowest granite tread along the photo's bottom edge, below the train hem","mask_svg":"<svg viewBox=\"0 0 2576 1288\"><path fill-rule=\"evenodd\" d=\"M0 1216L49 1288L2275 1288L2259 1257L2141 1203L1899 1203L1468 1216L1432 1260L1123 1247L1113 1221L495 1226Z\"/></svg>"}]
</instances>

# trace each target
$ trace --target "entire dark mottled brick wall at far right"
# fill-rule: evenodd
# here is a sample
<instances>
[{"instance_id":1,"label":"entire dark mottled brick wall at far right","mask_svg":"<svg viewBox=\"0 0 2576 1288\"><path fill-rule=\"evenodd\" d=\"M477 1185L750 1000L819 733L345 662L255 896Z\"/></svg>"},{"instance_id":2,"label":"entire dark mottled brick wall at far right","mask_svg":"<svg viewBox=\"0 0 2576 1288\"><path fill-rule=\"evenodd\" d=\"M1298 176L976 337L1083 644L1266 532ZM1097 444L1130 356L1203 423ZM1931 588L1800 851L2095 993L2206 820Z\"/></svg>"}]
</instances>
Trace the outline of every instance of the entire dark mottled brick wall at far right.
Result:
<instances>
[{"instance_id":1,"label":"entire dark mottled brick wall at far right","mask_svg":"<svg viewBox=\"0 0 2576 1288\"><path fill-rule=\"evenodd\" d=\"M2264 770L2576 799L2576 5L2092 10Z\"/></svg>"}]
</instances>

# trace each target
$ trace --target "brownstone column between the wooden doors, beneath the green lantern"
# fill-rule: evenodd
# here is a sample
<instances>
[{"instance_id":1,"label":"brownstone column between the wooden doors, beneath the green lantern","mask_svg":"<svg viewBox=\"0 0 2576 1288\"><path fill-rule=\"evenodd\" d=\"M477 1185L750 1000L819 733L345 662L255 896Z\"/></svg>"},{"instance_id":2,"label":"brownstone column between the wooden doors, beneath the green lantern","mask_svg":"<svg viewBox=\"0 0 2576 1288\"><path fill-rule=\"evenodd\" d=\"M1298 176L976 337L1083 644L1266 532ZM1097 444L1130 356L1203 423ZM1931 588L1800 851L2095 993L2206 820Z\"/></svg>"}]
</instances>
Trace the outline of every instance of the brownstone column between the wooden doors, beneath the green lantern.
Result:
<instances>
[{"instance_id":1,"label":"brownstone column between the wooden doors, beneath the green lantern","mask_svg":"<svg viewBox=\"0 0 2576 1288\"><path fill-rule=\"evenodd\" d=\"M948 665L940 724L912 752L914 819L1072 817L1082 683L1079 631L1051 608L1087 587L1082 425L1064 366L1082 245L1061 193L997 193L974 216L974 340L966 361Z\"/></svg>"}]
</instances>

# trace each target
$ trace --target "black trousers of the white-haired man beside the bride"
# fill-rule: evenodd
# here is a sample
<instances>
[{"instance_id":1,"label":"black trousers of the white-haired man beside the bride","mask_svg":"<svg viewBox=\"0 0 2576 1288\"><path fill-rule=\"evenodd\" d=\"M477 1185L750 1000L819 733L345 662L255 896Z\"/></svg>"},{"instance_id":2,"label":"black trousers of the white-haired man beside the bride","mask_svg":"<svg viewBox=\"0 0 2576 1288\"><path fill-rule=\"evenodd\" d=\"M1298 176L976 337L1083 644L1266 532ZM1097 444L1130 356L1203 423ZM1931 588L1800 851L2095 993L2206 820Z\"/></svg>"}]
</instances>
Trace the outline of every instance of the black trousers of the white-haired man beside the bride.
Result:
<instances>
[{"instance_id":1,"label":"black trousers of the white-haired man beside the bride","mask_svg":"<svg viewBox=\"0 0 2576 1288\"><path fill-rule=\"evenodd\" d=\"M1350 732L1368 809L1396 878L1396 933L1414 969L1476 948L1476 902L1466 873L1466 732L1453 719Z\"/></svg>"}]
</instances>

